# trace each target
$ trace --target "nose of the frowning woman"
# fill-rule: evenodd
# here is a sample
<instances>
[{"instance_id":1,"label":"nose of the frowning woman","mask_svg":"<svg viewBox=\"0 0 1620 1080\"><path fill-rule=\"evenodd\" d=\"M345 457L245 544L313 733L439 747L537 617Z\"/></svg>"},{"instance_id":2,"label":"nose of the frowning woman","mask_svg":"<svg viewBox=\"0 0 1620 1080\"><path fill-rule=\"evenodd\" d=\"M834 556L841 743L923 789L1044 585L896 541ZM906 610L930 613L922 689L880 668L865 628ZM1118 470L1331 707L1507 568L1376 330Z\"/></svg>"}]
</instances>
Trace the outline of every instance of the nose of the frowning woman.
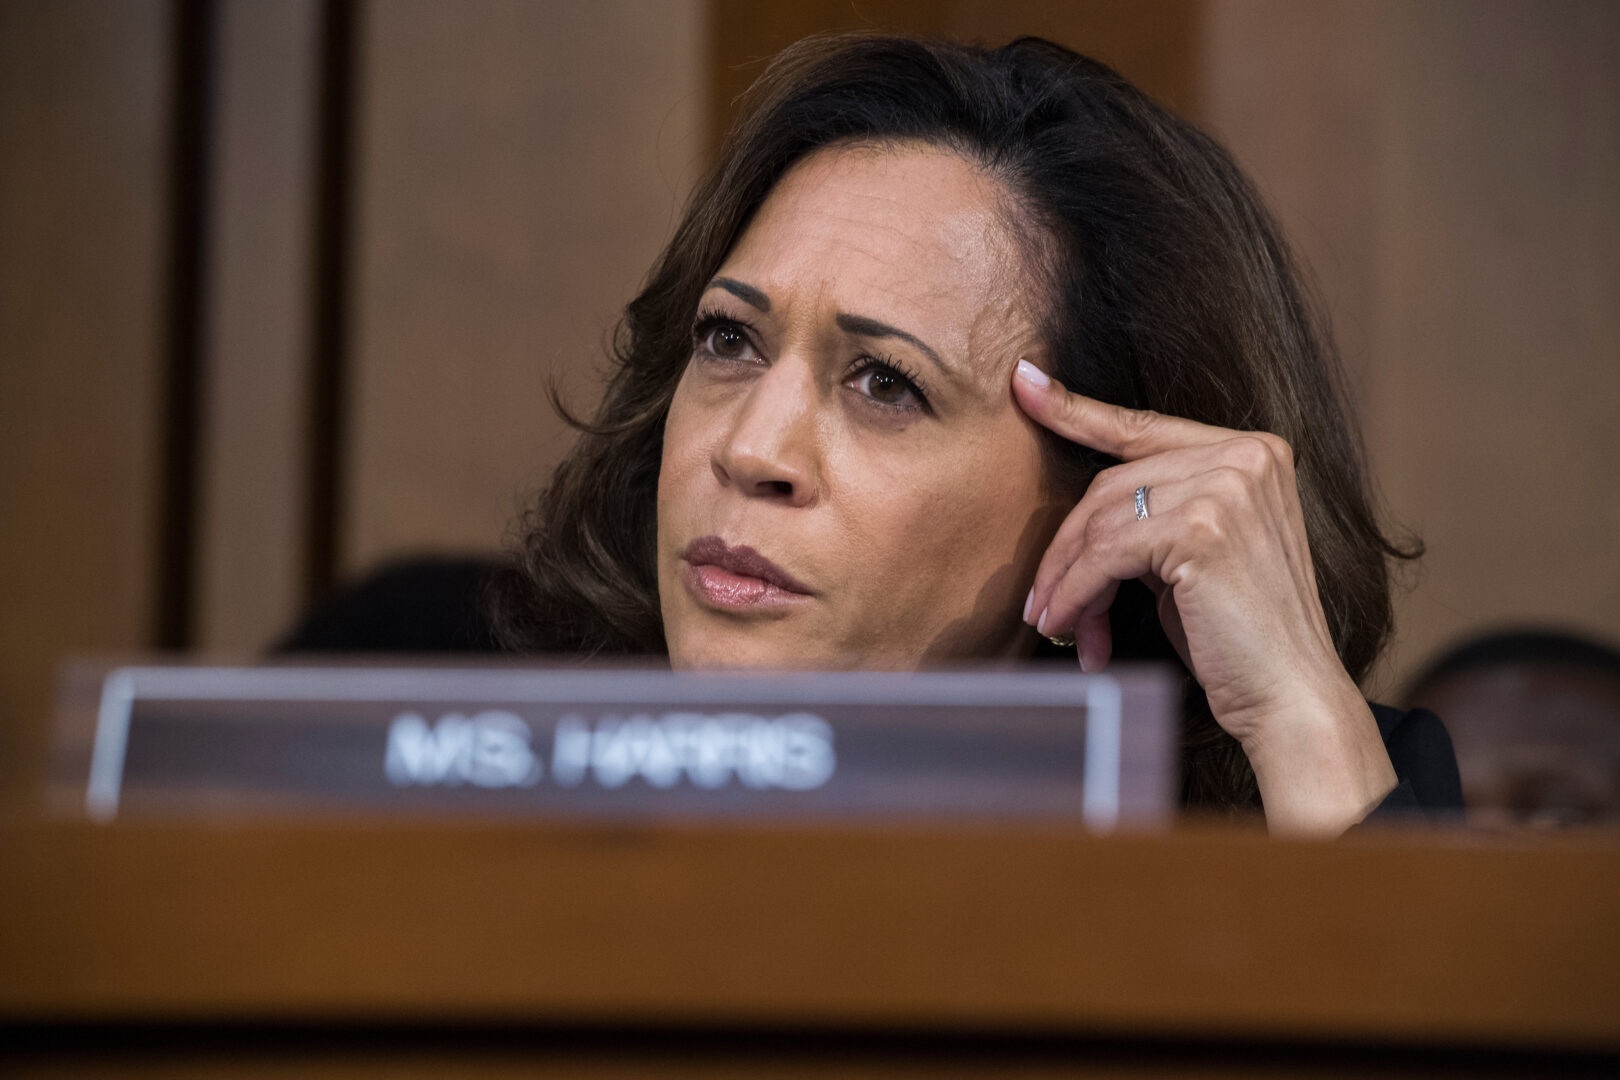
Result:
<instances>
[{"instance_id":1,"label":"nose of the frowning woman","mask_svg":"<svg viewBox=\"0 0 1620 1080\"><path fill-rule=\"evenodd\" d=\"M748 497L807 507L816 497L818 460L812 372L779 358L737 402L710 465L721 484Z\"/></svg>"}]
</instances>

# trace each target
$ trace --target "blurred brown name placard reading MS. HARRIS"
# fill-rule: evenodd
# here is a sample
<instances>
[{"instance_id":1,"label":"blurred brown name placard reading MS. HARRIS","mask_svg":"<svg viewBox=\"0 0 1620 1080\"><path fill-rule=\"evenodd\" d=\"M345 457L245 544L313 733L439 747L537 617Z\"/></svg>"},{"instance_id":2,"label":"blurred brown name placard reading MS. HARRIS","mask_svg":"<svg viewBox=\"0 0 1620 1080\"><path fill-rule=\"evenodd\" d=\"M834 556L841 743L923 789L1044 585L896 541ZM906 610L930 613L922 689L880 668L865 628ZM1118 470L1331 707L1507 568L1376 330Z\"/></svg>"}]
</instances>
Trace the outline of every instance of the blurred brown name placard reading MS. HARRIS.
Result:
<instances>
[{"instance_id":1,"label":"blurred brown name placard reading MS. HARRIS","mask_svg":"<svg viewBox=\"0 0 1620 1080\"><path fill-rule=\"evenodd\" d=\"M1166 821L1157 669L120 667L86 808Z\"/></svg>"}]
</instances>

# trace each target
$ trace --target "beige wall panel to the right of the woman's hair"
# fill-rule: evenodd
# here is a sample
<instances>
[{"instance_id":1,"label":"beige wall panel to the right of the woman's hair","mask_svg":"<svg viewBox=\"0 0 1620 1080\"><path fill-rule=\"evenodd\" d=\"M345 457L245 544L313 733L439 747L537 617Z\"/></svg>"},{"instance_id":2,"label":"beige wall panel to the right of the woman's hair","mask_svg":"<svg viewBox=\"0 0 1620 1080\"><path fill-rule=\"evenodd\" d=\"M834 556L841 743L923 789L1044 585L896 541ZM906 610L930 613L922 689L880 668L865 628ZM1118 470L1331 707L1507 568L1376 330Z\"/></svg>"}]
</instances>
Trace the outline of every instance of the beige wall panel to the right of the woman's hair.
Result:
<instances>
[{"instance_id":1,"label":"beige wall panel to the right of the woman's hair","mask_svg":"<svg viewBox=\"0 0 1620 1080\"><path fill-rule=\"evenodd\" d=\"M1620 641L1620 6L1220 0L1202 55L1429 546L1380 682L1505 623Z\"/></svg>"}]
</instances>

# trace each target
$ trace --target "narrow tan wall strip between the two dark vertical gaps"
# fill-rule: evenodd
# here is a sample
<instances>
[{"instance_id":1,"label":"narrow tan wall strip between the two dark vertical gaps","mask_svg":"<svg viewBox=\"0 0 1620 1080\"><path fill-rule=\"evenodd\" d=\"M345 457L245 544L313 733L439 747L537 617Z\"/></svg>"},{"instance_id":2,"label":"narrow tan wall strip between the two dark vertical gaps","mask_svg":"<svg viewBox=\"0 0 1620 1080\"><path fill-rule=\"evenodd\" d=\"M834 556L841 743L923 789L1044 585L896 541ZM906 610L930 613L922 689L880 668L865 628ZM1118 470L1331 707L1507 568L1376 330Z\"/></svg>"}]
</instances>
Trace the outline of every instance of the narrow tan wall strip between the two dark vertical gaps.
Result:
<instances>
[{"instance_id":1,"label":"narrow tan wall strip between the two dark vertical gaps","mask_svg":"<svg viewBox=\"0 0 1620 1080\"><path fill-rule=\"evenodd\" d=\"M306 601L316 0L219 8L194 643L253 654Z\"/></svg>"}]
</instances>

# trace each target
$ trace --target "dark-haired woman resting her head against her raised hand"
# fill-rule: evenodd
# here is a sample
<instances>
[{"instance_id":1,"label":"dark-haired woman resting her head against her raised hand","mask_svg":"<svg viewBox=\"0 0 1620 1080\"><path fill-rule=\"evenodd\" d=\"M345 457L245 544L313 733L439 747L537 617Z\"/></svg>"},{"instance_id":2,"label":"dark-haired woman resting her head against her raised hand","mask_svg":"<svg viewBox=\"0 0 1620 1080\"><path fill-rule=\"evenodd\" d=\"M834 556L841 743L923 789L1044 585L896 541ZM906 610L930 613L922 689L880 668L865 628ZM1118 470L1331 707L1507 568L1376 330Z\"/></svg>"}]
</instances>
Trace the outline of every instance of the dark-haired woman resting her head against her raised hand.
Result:
<instances>
[{"instance_id":1,"label":"dark-haired woman resting her head against her raised hand","mask_svg":"<svg viewBox=\"0 0 1620 1080\"><path fill-rule=\"evenodd\" d=\"M1455 777L1432 717L1356 688L1408 552L1218 146L1037 39L810 39L745 105L531 513L512 644L915 669L1072 640L1189 672L1189 805L1338 832L1413 801L1380 721Z\"/></svg>"}]
</instances>

